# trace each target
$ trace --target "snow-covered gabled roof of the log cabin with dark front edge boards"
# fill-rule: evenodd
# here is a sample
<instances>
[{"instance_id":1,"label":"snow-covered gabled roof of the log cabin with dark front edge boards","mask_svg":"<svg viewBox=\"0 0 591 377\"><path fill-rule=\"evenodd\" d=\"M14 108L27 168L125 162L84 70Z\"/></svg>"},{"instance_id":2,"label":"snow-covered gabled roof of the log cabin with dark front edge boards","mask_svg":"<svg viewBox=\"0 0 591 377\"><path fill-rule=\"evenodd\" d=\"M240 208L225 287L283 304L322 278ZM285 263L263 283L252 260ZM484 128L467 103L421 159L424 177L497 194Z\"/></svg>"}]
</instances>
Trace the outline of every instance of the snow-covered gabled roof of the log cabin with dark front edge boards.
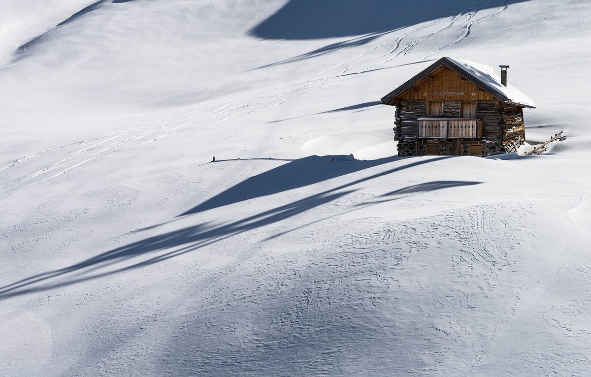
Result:
<instances>
[{"instance_id":1,"label":"snow-covered gabled roof of the log cabin with dark front edge boards","mask_svg":"<svg viewBox=\"0 0 591 377\"><path fill-rule=\"evenodd\" d=\"M382 98L382 103L388 103L400 93L413 86L418 80L427 76L429 73L436 70L440 66L447 66L450 69L461 73L462 76L466 77L466 79L472 81L483 90L491 93L502 102L510 103L511 105L522 106L525 108L535 108L534 101L532 101L531 98L526 96L519 89L512 86L511 84L508 84L507 86L502 85L501 77L495 73L495 70L491 66L474 63L470 60L453 59L450 57L442 57L435 63L428 66L426 69L421 71L421 73L417 74L417 76L414 76L412 79L408 80L397 89L389 93L387 96Z\"/></svg>"}]
</instances>

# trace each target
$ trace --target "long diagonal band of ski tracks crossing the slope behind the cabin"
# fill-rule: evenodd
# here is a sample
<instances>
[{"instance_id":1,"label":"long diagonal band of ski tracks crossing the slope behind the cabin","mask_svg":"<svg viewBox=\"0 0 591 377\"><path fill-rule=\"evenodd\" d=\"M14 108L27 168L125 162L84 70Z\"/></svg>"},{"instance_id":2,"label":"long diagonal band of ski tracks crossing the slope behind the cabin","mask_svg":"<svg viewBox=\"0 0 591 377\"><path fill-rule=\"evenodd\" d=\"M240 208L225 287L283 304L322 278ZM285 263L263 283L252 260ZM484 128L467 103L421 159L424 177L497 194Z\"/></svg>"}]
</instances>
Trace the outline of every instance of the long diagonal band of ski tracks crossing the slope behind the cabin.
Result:
<instances>
[{"instance_id":1,"label":"long diagonal band of ski tracks crossing the slope behind the cabin","mask_svg":"<svg viewBox=\"0 0 591 377\"><path fill-rule=\"evenodd\" d=\"M276 87L274 89L265 90L264 92L260 92L255 95L246 96L242 99L238 99L238 100L235 100L230 103L224 103L224 104L218 103L217 105L215 105L215 104L210 105L210 106L207 106L206 108L202 108L202 109L199 109L196 111L186 112L181 115L174 116L173 118L164 119L163 121L150 122L150 124L134 126L132 128L125 129L124 131L121 131L121 132L103 135L102 137L96 137L93 139L89 139L87 141L81 141L77 144L83 144L86 142L92 142L92 141L102 139L102 141L96 142L95 144L92 144L89 147L85 147L85 148L82 148L81 150L71 152L70 154L64 155L62 157L54 158L53 160L57 161L57 162L47 166L46 168L43 168L42 170L38 170L38 171L35 171L32 173L27 173L24 176L21 175L18 178L15 178L15 179L13 178L12 180L6 181L4 183L0 182L1 183L0 184L0 195L8 193L9 189L11 189L11 188L14 190L16 187L18 187L19 184L21 185L21 187L24 184L26 186L29 186L30 184L37 184L37 183L47 181L51 178L59 177L59 176L61 176L61 174L66 173L68 171L72 171L73 168L79 167L80 165L82 165L82 163L80 161L83 161L83 163L86 163L86 162L89 162L92 160L96 160L97 158L105 157L106 155L109 155L111 153L120 152L123 150L128 150L129 148L141 147L142 145L146 145L151 142L157 141L158 139L163 138L164 136L176 134L177 132L184 131L183 129L180 129L180 128L184 128L184 126L187 126L187 125L199 126L199 125L203 125L203 124L218 124L220 122L227 121L228 119L235 118L236 116L245 115L246 113L251 113L251 112L256 112L256 111L264 111L265 109L274 108L275 106L282 105L285 102L287 102L288 100L296 98L297 96L308 94L308 93L312 92L313 90L322 90L326 87L336 85L337 83L341 82L342 80L348 80L350 78L347 78L347 77L343 78L340 76L342 76L343 74L346 74L348 71L350 71L354 68L358 67L359 72L368 71L370 69L375 69L375 67L379 67L384 63L389 63L391 61L405 57L408 53L410 53L411 50L413 50L413 48L415 48L417 45L421 44L423 41L427 40L428 38L433 37L434 35L440 34L441 32L449 30L452 27L456 27L456 26L462 27L463 31L460 34L459 39L452 41L451 43L445 45L444 47L439 48L436 51L432 51L431 53L426 54L423 57L423 60L424 60L424 58L430 56L431 54L437 53L437 52L443 50L444 48L449 47L450 45L453 45L453 44L456 44L456 43L459 43L460 41L462 41L463 38L466 38L467 35L469 35L470 28L476 22L479 22L482 19L485 19L487 17L491 17L493 15L499 14L500 12L507 9L507 1L504 2L504 6L499 7L502 9L498 9L497 11L493 12L492 14L485 15L483 17L476 19L475 21L470 22L470 20L478 13L478 10L471 10L470 11L469 9L475 9L475 8L479 8L479 7L483 8L484 6L490 6L490 2L483 2L480 0L475 1L472 4L470 4L469 6L467 6L465 11L462 11L459 14L454 15L453 17L443 18L443 19L438 19L436 21L428 22L426 25L423 25L418 28L414 28L413 30L407 31L398 37L389 38L388 40L386 40L382 43L379 43L372 48L369 48L365 52L358 54L355 57L352 57L348 60L342 61L339 64L335 64L331 67L328 67L327 69L324 69L324 70L314 74L313 76L302 80L301 82L290 83L289 85L284 85L284 86ZM466 18L463 19L462 21L460 21L459 23L457 23L457 21L465 15L466 15ZM467 25L465 25L466 22L469 22L469 23ZM427 32L426 35L422 35L422 36L420 35L422 31L428 30L429 28L432 28L432 27L436 27L438 24L441 24L441 23L444 24L443 27L438 28L436 31ZM402 45L402 41L407 40L408 38L410 38L411 40L408 43ZM393 46L391 46L392 43L394 43ZM377 51L381 48L387 48L387 51L385 51L384 53L378 54L377 56L374 56L374 57L365 58L369 54L371 54L374 51ZM382 60L382 58L385 56L388 56L388 58L385 60ZM342 67L343 65L345 65L344 68L339 68L339 67ZM335 71L335 70L336 70L335 73L328 74L327 76L324 76L322 78L317 77L317 76L320 76L320 75L323 75L323 74L326 74L330 71ZM285 90L285 89L287 89L287 90ZM269 102L270 102L270 104L269 104ZM214 109L208 110L211 108L214 108ZM193 115L195 112L202 112L202 111L206 111L206 112L204 112L202 115L196 115L196 116ZM119 139L119 138L123 137L125 134L128 134L130 132L140 131L147 126L158 124L158 123L162 124L162 123L170 122L172 120L174 120L176 122L184 122L184 124L180 125L180 126L165 124L163 126L158 126L155 128L148 129L146 131L139 132L138 134L135 134L134 136L127 138L123 141L115 141L116 139ZM126 144L131 144L132 142L137 141L141 138L145 138L145 137L151 137L151 140L148 142L141 142L139 144L134 144L131 146L126 145ZM109 145L108 144L109 142L112 142L112 144ZM107 145L104 148L95 151L99 146L102 146L104 144L107 144ZM15 160L12 163L9 163L8 165L5 165L4 167L0 168L0 172L4 172L4 175L6 175L7 171L9 171L11 168L22 166L22 164L25 163L27 160L32 160L34 158L38 158L43 155L51 154L51 152L63 150L64 148L68 148L68 147L69 146L50 148L45 151L41 151L41 152L27 155L26 157L19 158L18 160ZM91 152L91 151L92 151L92 153L89 154L89 152ZM48 163L48 162L50 163L51 160L46 161L46 163ZM67 166L67 165L70 165L70 166ZM54 171L58 170L59 168L65 168L65 169L61 170L60 173L52 174L48 178L43 178L44 175L54 173ZM20 173L20 171L18 173ZM18 174L18 173L13 173L13 175ZM20 174L22 174L22 173L20 173ZM37 181L33 181L35 178L39 178L39 179ZM31 182L31 181L33 181L33 182Z\"/></svg>"}]
</instances>

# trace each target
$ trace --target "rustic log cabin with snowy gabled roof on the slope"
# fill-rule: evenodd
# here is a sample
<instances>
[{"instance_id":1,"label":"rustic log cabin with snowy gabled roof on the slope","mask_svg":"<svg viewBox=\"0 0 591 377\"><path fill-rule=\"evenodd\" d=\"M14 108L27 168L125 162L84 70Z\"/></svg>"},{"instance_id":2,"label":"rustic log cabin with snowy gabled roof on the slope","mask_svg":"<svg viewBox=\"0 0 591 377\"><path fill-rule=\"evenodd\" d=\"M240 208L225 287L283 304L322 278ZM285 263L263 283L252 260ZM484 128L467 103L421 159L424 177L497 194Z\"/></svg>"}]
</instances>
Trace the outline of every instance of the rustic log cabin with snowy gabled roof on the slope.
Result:
<instances>
[{"instance_id":1,"label":"rustic log cabin with snowy gabled roof on the slope","mask_svg":"<svg viewBox=\"0 0 591 377\"><path fill-rule=\"evenodd\" d=\"M398 156L488 156L525 141L523 108L534 102L492 67L443 57L382 98L396 106Z\"/></svg>"}]
</instances>

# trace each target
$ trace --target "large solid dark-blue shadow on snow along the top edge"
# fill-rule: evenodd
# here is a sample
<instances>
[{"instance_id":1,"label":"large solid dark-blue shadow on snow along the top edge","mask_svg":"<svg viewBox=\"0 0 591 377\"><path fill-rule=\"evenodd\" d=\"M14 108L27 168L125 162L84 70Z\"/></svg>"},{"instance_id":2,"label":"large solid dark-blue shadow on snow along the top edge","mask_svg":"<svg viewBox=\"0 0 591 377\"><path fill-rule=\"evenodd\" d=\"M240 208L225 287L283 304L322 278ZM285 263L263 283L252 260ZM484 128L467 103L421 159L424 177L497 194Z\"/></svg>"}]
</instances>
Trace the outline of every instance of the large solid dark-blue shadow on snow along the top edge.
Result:
<instances>
[{"instance_id":1,"label":"large solid dark-blue shadow on snow along the top edge","mask_svg":"<svg viewBox=\"0 0 591 377\"><path fill-rule=\"evenodd\" d=\"M249 34L277 40L347 37L529 0L291 0Z\"/></svg>"}]
</instances>

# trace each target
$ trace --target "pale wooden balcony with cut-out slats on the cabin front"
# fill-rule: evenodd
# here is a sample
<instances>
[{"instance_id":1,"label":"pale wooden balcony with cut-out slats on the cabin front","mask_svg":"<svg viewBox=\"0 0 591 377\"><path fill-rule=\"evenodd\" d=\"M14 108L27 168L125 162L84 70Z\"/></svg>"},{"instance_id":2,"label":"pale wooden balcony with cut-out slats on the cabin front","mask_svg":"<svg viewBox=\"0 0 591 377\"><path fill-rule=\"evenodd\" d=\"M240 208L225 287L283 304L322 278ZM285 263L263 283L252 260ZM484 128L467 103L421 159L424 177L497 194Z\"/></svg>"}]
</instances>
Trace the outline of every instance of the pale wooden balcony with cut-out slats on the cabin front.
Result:
<instances>
[{"instance_id":1,"label":"pale wooden balcony with cut-out slats on the cabin front","mask_svg":"<svg viewBox=\"0 0 591 377\"><path fill-rule=\"evenodd\" d=\"M418 137L427 139L476 139L482 135L480 119L418 118Z\"/></svg>"}]
</instances>

